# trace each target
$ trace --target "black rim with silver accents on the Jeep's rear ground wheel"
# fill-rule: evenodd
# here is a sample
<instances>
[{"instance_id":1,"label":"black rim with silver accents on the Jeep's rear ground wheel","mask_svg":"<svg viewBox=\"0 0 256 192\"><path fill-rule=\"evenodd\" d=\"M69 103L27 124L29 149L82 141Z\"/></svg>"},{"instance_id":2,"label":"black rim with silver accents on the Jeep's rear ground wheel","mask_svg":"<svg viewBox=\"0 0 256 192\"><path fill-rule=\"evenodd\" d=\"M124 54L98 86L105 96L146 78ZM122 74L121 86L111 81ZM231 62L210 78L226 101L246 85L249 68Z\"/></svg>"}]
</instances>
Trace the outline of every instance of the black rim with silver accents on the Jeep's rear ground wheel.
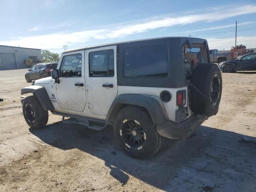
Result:
<instances>
[{"instance_id":1,"label":"black rim with silver accents on the Jeep's rear ground wheel","mask_svg":"<svg viewBox=\"0 0 256 192\"><path fill-rule=\"evenodd\" d=\"M146 133L137 120L123 120L120 136L125 145L132 150L141 150L146 144Z\"/></svg>"}]
</instances>

